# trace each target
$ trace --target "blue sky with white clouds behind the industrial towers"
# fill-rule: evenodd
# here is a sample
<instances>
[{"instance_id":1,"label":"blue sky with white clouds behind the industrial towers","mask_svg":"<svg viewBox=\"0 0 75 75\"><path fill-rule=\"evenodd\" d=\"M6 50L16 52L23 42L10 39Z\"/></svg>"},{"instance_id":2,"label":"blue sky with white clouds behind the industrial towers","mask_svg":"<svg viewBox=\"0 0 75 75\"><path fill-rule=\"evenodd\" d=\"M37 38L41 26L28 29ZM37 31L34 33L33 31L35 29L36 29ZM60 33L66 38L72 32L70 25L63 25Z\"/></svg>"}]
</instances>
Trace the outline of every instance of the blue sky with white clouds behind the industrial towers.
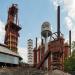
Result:
<instances>
[{"instance_id":1,"label":"blue sky with white clouds behind the industrial towers","mask_svg":"<svg viewBox=\"0 0 75 75\"><path fill-rule=\"evenodd\" d=\"M8 8L18 4L19 24L22 27L19 38L19 53L27 62L27 40L35 38L40 42L41 25L44 21L51 24L52 32L57 30L57 6L61 7L61 32L68 40L68 31L72 30L75 40L75 0L0 0L0 43L4 42L5 24Z\"/></svg>"}]
</instances>

